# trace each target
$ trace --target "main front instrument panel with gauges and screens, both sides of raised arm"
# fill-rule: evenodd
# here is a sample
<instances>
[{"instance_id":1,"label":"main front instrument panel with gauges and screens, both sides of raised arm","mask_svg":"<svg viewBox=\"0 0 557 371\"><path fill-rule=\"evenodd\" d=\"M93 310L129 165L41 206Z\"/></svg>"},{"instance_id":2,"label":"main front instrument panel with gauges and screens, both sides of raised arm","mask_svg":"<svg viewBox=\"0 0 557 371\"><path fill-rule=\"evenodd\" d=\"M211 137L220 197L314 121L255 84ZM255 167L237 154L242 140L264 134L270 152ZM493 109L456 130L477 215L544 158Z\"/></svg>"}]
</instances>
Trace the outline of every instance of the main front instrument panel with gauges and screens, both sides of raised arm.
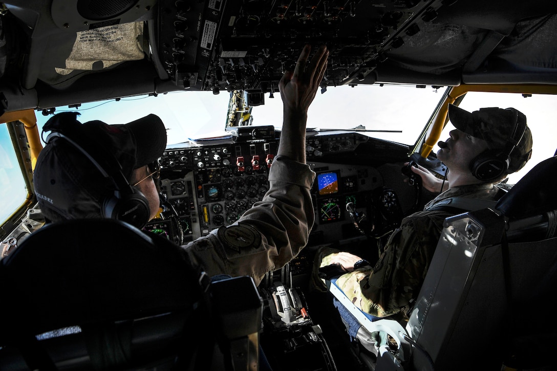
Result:
<instances>
[{"instance_id":1,"label":"main front instrument panel with gauges and screens, both sides of raised arm","mask_svg":"<svg viewBox=\"0 0 557 371\"><path fill-rule=\"evenodd\" d=\"M278 141L225 139L167 148L159 159L162 216L166 210L176 220L155 219L148 228L169 238L179 232L176 242L185 243L236 222L268 191L268 173ZM351 203L357 212L371 214L373 195L384 188L378 168L358 163L354 157L364 144L370 158L385 145L359 133L308 136L307 164L316 172L311 189L316 220L312 243L361 235L346 205Z\"/></svg>"}]
</instances>

